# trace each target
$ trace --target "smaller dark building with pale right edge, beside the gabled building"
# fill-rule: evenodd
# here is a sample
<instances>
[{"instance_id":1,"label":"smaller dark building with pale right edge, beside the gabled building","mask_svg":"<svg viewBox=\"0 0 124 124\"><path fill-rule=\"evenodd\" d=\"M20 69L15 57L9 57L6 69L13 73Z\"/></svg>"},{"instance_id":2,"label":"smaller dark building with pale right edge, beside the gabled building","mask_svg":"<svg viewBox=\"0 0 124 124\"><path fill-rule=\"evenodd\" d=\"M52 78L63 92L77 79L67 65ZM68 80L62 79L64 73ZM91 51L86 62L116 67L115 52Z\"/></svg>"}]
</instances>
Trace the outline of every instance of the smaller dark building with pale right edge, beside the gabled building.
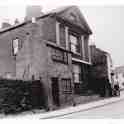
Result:
<instances>
[{"instance_id":1,"label":"smaller dark building with pale right edge, beside the gabled building","mask_svg":"<svg viewBox=\"0 0 124 124\"><path fill-rule=\"evenodd\" d=\"M90 46L92 66L90 70L91 88L102 96L112 95L114 86L114 70L112 58L95 45Z\"/></svg>"}]
</instances>

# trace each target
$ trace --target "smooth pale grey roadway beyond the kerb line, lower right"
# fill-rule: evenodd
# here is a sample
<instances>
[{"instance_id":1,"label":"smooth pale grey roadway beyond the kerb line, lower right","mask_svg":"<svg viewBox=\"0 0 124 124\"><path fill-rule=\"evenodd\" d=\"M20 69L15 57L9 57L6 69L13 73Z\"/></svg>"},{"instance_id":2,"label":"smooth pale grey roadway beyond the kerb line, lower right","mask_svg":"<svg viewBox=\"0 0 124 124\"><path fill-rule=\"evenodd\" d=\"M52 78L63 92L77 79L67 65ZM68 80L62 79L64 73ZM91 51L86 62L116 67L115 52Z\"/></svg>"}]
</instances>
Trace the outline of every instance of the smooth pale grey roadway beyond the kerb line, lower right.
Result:
<instances>
[{"instance_id":1,"label":"smooth pale grey roadway beyond the kerb line, lower right","mask_svg":"<svg viewBox=\"0 0 124 124\"><path fill-rule=\"evenodd\" d=\"M89 119L89 118L90 119L104 119L104 118L112 118L112 119L121 118L122 119L124 118L124 99L114 103L110 103L102 107L93 108L90 110L57 117L57 119Z\"/></svg>"}]
</instances>

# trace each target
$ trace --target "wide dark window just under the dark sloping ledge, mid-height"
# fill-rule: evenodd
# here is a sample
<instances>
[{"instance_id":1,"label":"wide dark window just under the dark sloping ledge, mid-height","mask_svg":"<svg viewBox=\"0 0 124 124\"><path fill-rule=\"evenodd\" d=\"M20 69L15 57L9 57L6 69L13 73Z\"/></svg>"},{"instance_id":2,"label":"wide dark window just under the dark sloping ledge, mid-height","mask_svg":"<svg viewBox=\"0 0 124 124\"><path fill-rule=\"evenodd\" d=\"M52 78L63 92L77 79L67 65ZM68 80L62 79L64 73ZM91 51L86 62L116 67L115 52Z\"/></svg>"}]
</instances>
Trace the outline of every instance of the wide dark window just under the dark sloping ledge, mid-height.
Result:
<instances>
[{"instance_id":1,"label":"wide dark window just under the dark sloping ledge, mid-height","mask_svg":"<svg viewBox=\"0 0 124 124\"><path fill-rule=\"evenodd\" d=\"M54 61L68 64L68 53L58 49L52 49L52 59Z\"/></svg>"}]
</instances>

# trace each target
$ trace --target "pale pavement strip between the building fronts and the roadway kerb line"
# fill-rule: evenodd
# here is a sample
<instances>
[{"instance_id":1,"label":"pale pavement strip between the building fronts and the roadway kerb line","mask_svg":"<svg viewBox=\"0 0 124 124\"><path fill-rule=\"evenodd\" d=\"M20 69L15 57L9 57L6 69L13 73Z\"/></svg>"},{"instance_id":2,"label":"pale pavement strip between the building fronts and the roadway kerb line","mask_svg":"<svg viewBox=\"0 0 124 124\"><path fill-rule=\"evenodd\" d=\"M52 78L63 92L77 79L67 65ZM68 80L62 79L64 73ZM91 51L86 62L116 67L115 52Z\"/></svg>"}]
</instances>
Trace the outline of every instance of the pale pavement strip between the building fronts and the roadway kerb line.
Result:
<instances>
[{"instance_id":1,"label":"pale pavement strip between the building fronts and the roadway kerb line","mask_svg":"<svg viewBox=\"0 0 124 124\"><path fill-rule=\"evenodd\" d=\"M102 106L106 106L111 103L116 103L121 100L124 100L124 91L121 91L120 97L111 97L111 98L105 98L98 101L93 101L86 104L80 104L77 106L70 106L67 108L45 112L44 110L37 110L37 111L30 111L30 112L23 112L18 115L8 115L4 116L1 115L0 118L16 118L16 119L54 119L59 118L62 116L66 116L73 113L88 111L90 109L99 108Z\"/></svg>"}]
</instances>

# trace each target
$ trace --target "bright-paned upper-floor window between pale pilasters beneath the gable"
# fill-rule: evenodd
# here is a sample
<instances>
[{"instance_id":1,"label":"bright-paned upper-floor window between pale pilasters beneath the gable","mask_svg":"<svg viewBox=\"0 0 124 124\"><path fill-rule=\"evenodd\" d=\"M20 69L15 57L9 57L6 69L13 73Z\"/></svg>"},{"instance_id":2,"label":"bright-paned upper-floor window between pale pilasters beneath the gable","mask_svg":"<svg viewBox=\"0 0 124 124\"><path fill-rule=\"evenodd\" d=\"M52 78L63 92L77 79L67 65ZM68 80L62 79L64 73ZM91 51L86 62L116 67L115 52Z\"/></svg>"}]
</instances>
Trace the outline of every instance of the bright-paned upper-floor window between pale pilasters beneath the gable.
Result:
<instances>
[{"instance_id":1,"label":"bright-paned upper-floor window between pale pilasters beneath the gable","mask_svg":"<svg viewBox=\"0 0 124 124\"><path fill-rule=\"evenodd\" d=\"M70 41L70 45L71 45L71 51L73 53L80 54L80 37L70 34L69 41Z\"/></svg>"}]
</instances>

